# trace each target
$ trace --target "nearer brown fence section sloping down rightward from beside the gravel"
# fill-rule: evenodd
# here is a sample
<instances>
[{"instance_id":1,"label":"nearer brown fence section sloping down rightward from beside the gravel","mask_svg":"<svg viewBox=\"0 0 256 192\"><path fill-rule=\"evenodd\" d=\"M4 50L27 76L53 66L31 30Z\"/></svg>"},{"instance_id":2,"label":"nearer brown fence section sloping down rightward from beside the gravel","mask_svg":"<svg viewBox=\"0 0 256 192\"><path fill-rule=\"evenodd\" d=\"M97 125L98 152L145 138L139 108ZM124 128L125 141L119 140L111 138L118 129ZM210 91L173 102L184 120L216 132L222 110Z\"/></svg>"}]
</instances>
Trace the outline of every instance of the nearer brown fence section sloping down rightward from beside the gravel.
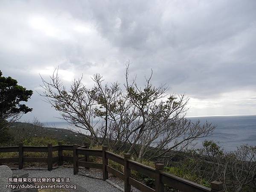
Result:
<instances>
[{"instance_id":1,"label":"nearer brown fence section sloping down rightward from beside the gravel","mask_svg":"<svg viewBox=\"0 0 256 192\"><path fill-rule=\"evenodd\" d=\"M102 169L103 180L108 180L108 174L119 177L124 180L125 192L131 192L131 186L140 189L143 192L163 192L164 185L171 186L183 192L223 192L221 182L213 181L211 189L192 181L177 177L172 174L163 172L164 165L160 163L155 164L155 168L143 165L136 161L131 160L131 154L124 154L124 157L108 151L108 146L102 146L102 150L93 150L82 147L74 147L74 174L78 174L78 167L86 165L88 168ZM87 154L88 156L102 157L102 164L86 162L84 159L79 159L79 154ZM119 172L113 167L109 166L108 160L124 166L124 172ZM146 186L138 180L131 177L131 170L140 172L143 175L155 180L154 189Z\"/></svg>"}]
</instances>

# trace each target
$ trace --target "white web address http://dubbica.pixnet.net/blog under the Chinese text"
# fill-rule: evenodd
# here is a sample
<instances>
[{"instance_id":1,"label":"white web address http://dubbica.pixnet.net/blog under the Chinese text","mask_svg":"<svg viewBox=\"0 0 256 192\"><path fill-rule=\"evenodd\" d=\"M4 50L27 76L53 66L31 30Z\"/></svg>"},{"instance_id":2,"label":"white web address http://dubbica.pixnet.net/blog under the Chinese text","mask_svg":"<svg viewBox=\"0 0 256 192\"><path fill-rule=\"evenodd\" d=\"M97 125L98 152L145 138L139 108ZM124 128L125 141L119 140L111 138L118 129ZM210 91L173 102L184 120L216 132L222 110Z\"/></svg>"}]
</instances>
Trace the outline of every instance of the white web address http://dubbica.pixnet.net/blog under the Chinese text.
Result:
<instances>
[{"instance_id":1,"label":"white web address http://dubbica.pixnet.net/blog under the Chinese text","mask_svg":"<svg viewBox=\"0 0 256 192\"><path fill-rule=\"evenodd\" d=\"M76 185L71 185L71 184L53 184L53 185L6 184L6 189L75 189L76 190Z\"/></svg>"}]
</instances>

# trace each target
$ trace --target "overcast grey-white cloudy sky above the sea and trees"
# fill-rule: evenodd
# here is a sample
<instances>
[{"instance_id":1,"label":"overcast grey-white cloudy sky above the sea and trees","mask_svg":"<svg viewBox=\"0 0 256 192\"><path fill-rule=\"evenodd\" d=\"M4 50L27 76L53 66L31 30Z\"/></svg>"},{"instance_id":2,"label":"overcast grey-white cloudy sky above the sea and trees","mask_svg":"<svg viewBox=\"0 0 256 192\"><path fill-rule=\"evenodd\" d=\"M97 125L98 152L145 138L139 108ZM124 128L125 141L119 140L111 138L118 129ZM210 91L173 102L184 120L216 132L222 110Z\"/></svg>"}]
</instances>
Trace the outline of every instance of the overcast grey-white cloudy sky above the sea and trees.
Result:
<instances>
[{"instance_id":1,"label":"overcast grey-white cloudy sky above the sea and trees","mask_svg":"<svg viewBox=\"0 0 256 192\"><path fill-rule=\"evenodd\" d=\"M256 114L255 0L0 1L0 70L34 94L23 120L58 121L39 96L59 67L67 86L100 73L188 96L187 116Z\"/></svg>"}]
</instances>

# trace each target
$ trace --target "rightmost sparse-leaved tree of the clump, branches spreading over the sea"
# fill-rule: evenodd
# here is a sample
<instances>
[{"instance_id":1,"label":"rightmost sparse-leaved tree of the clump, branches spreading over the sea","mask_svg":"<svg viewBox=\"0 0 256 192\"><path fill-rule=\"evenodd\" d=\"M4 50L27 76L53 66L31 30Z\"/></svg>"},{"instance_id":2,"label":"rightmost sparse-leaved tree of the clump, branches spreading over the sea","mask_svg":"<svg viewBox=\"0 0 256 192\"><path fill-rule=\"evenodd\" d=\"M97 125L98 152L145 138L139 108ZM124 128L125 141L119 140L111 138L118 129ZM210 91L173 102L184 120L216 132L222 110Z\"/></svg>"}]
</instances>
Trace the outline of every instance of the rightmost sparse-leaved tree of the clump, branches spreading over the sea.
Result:
<instances>
[{"instance_id":1,"label":"rightmost sparse-leaved tree of the clump, branches spreading over the sea","mask_svg":"<svg viewBox=\"0 0 256 192\"><path fill-rule=\"evenodd\" d=\"M128 67L126 68L126 98L137 111L138 126L131 134L132 143L128 152L140 144L138 159L145 157L149 151L152 159L163 157L170 150L182 150L200 137L206 137L214 129L210 124L191 123L184 118L189 101L185 95L167 95L168 87L154 87L150 77L145 77L145 87L139 88L135 82L128 84ZM163 101L165 99L165 101ZM129 139L130 137L128 137ZM155 148L152 148L154 146Z\"/></svg>"}]
</instances>

